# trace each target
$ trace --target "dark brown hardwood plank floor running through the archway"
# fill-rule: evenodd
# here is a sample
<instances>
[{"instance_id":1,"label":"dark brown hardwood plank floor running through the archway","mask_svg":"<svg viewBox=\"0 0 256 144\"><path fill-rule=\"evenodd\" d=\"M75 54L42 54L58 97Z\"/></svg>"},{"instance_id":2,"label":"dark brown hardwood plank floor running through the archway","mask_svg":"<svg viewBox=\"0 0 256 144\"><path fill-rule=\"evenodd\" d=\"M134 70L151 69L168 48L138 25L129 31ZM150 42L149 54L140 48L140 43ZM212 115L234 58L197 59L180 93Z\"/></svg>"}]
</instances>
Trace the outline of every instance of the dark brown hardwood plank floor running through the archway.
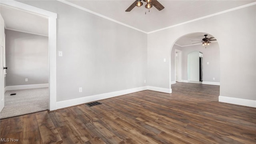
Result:
<instances>
[{"instance_id":1,"label":"dark brown hardwood plank floor running through the archway","mask_svg":"<svg viewBox=\"0 0 256 144\"><path fill-rule=\"evenodd\" d=\"M218 86L178 83L172 90L2 119L2 141L19 141L1 144L256 143L256 108L217 102Z\"/></svg>"}]
</instances>

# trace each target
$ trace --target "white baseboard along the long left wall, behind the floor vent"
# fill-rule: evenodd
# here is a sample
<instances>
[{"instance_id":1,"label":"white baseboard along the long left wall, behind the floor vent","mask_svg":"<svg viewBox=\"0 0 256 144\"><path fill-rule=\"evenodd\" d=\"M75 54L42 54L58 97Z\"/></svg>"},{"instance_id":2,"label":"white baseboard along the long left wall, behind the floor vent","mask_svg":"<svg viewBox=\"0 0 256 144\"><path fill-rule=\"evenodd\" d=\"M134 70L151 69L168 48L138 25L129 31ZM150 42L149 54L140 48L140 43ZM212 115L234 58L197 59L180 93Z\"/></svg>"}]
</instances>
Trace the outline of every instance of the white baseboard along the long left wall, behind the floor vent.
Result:
<instances>
[{"instance_id":1,"label":"white baseboard along the long left wall, behind the floor vent","mask_svg":"<svg viewBox=\"0 0 256 144\"><path fill-rule=\"evenodd\" d=\"M84 104L84 103L87 103L87 102L93 102L93 101L96 101L96 100L112 98L112 97L115 97L115 96L121 96L121 95L124 95L124 94L130 94L130 93L133 93L133 92L139 92L139 91L142 91L142 90L147 90L147 86L142 86L142 87L139 87L139 88L131 88L131 89L128 89L128 90L120 90L120 91L116 91L116 92L108 92L108 93L105 93L105 94L97 94L97 95L94 95L94 96L86 96L86 97L82 97L82 98L75 98L75 99L71 99L71 100L64 100L64 101L57 102L57 109L66 108L66 107L69 107L69 106L75 106L75 105L78 105L78 104Z\"/></svg>"}]
</instances>

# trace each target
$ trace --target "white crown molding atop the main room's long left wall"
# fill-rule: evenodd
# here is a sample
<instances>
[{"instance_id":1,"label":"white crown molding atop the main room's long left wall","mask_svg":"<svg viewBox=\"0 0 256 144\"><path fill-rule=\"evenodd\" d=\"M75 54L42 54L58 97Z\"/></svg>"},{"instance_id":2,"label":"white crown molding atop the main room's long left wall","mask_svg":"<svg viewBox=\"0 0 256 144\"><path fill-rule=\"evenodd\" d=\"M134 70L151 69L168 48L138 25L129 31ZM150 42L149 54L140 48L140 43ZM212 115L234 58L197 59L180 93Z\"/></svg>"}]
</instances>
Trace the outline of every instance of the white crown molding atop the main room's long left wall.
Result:
<instances>
[{"instance_id":1,"label":"white crown molding atop the main room's long left wall","mask_svg":"<svg viewBox=\"0 0 256 144\"><path fill-rule=\"evenodd\" d=\"M99 13L97 13L97 12L93 12L92 10L88 10L88 9L82 7L82 6L78 6L78 5L73 4L73 3L71 3L71 2L67 2L67 1L65 1L65 0L57 0L57 1L62 2L62 3L64 3L64 4L67 4L67 5L69 5L69 6L73 6L73 7L75 7L75 8L80 9L80 10L84 10L84 11L86 11L86 12L89 12L89 13L94 14L94 15L96 15L96 16L99 16L99 17L101 17L101 18L105 18L105 19L110 20L110 21L112 21L112 22L116 22L116 23L121 24L121 25L123 25L123 26L126 26L126 27L128 27L128 28L132 28L132 29L134 29L134 30L138 30L138 31L140 31L140 32L143 32L143 33L145 33L145 34L148 34L147 32L145 32L145 31L143 31L143 30L140 30L140 29L135 28L135 27L133 27L133 26L130 26L130 25L128 25L128 24L124 24L124 23L122 23L122 22L119 22L119 21L117 21L117 20L114 20L114 19L112 19L112 18L109 18L109 17L107 17L107 16L104 16L104 15L99 14Z\"/></svg>"}]
</instances>

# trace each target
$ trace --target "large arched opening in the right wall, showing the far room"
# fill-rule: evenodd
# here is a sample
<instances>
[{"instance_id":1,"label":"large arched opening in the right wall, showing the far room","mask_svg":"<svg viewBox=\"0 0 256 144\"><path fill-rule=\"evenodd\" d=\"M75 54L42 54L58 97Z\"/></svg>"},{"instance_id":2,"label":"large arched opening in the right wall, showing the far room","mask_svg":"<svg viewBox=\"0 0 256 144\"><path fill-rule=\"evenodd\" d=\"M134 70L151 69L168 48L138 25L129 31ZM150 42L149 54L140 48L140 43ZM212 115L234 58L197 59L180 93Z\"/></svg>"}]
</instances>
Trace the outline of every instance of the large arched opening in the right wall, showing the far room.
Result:
<instances>
[{"instance_id":1,"label":"large arched opening in the right wall, showing the far room","mask_svg":"<svg viewBox=\"0 0 256 144\"><path fill-rule=\"evenodd\" d=\"M175 92L175 87L179 84L214 85L218 89L214 100L218 101L220 87L220 48L217 39L210 34L207 34L207 38L211 39L210 44L202 46L205 34L207 33L197 32L187 34L178 38L174 43L171 51L170 72L172 92ZM181 72L179 73L179 71ZM203 89L198 90L202 91Z\"/></svg>"}]
</instances>

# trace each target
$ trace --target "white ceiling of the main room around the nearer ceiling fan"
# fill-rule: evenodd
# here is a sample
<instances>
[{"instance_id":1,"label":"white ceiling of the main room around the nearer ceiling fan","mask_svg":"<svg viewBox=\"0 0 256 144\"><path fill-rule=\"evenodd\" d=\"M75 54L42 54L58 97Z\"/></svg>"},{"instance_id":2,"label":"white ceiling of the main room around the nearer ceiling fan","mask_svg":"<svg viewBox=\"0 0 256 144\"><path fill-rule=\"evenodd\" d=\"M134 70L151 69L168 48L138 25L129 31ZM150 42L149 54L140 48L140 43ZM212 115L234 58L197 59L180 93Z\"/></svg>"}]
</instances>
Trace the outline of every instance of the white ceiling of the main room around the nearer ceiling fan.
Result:
<instances>
[{"instance_id":1,"label":"white ceiling of the main room around the nearer ceiling fan","mask_svg":"<svg viewBox=\"0 0 256 144\"><path fill-rule=\"evenodd\" d=\"M165 8L150 12L143 6L125 10L134 0L66 0L144 32L152 32L203 16L255 2L255 0L158 0ZM146 14L145 14L146 12Z\"/></svg>"}]
</instances>

